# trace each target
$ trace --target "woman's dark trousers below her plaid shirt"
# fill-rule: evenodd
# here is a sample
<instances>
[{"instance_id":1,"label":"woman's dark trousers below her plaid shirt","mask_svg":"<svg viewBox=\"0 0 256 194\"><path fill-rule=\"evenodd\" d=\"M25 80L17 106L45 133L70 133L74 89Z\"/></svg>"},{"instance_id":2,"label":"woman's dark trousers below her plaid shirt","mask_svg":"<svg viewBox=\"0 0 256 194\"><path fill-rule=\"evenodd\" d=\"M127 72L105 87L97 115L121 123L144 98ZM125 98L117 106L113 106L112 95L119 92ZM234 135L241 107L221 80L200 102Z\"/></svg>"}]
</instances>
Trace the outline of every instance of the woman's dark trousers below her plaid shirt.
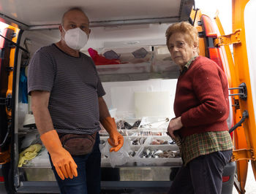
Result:
<instances>
[{"instance_id":1,"label":"woman's dark trousers below her plaid shirt","mask_svg":"<svg viewBox=\"0 0 256 194\"><path fill-rule=\"evenodd\" d=\"M222 173L231 155L232 150L227 150L191 160L179 169L169 194L220 194Z\"/></svg>"}]
</instances>

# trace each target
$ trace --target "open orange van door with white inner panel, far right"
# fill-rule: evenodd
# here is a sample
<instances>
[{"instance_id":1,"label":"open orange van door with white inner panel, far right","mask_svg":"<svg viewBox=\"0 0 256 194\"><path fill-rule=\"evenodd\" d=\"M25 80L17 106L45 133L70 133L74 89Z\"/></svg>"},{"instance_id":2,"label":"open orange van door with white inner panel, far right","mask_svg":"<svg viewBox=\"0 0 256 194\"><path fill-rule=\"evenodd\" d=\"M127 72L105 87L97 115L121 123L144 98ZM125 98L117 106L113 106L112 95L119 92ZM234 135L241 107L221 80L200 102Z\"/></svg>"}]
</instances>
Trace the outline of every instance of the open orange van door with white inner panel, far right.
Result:
<instances>
[{"instance_id":1,"label":"open orange van door with white inner panel, far right","mask_svg":"<svg viewBox=\"0 0 256 194\"><path fill-rule=\"evenodd\" d=\"M218 16L215 18L220 36L215 45L229 49L233 44L233 60L230 61L230 95L233 96L234 130L233 160L236 161L235 186L238 193L245 193L248 162L256 179L256 60L255 26L252 15L255 15L256 2L243 0L232 1L233 34L225 35Z\"/></svg>"}]
</instances>

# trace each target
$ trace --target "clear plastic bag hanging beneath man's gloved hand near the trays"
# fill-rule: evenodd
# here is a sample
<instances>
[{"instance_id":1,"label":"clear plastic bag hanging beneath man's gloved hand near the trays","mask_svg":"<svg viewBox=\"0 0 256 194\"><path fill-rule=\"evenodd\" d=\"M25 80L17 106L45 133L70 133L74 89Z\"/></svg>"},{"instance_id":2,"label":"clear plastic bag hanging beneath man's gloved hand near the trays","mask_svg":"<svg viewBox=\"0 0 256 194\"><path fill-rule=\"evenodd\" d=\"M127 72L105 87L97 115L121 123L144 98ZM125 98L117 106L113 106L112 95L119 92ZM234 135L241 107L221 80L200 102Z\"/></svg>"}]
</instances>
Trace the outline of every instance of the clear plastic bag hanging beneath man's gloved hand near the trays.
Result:
<instances>
[{"instance_id":1,"label":"clear plastic bag hanging beneath man's gloved hand near the trays","mask_svg":"<svg viewBox=\"0 0 256 194\"><path fill-rule=\"evenodd\" d=\"M102 155L107 156L110 159L110 165L114 168L115 166L122 166L125 163L132 162L132 158L129 157L130 144L128 139L124 139L124 145L118 152L110 152L111 146L106 141L104 144L99 144L99 150Z\"/></svg>"}]
</instances>

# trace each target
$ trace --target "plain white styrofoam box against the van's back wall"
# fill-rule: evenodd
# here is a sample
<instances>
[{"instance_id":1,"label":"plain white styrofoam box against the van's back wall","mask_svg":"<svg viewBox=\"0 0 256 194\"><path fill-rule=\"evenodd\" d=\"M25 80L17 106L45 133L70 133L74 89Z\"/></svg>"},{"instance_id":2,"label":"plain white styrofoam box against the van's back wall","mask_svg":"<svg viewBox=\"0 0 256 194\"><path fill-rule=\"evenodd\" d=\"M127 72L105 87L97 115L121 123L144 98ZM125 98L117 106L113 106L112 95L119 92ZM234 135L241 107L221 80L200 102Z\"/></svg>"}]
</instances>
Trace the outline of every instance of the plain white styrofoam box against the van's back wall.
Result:
<instances>
[{"instance_id":1,"label":"plain white styrofoam box against the van's back wall","mask_svg":"<svg viewBox=\"0 0 256 194\"><path fill-rule=\"evenodd\" d=\"M135 92L135 116L171 115L171 97L169 91Z\"/></svg>"}]
</instances>

